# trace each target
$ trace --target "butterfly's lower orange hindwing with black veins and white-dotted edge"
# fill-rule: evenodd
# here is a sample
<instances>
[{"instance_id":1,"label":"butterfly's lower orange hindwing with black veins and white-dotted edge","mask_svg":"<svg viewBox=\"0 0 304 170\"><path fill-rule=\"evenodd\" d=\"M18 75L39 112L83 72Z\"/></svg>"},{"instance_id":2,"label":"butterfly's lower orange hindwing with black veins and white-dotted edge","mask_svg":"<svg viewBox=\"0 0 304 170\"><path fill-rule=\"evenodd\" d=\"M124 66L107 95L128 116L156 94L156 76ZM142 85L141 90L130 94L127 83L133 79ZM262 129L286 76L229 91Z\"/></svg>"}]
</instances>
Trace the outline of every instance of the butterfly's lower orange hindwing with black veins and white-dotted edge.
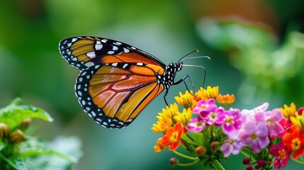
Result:
<instances>
[{"instance_id":1,"label":"butterfly's lower orange hindwing with black veins and white-dotted edge","mask_svg":"<svg viewBox=\"0 0 304 170\"><path fill-rule=\"evenodd\" d=\"M75 85L84 111L106 128L129 125L164 89L154 74L132 71L142 66L130 63L123 67L125 63L96 64L81 72Z\"/></svg>"}]
</instances>

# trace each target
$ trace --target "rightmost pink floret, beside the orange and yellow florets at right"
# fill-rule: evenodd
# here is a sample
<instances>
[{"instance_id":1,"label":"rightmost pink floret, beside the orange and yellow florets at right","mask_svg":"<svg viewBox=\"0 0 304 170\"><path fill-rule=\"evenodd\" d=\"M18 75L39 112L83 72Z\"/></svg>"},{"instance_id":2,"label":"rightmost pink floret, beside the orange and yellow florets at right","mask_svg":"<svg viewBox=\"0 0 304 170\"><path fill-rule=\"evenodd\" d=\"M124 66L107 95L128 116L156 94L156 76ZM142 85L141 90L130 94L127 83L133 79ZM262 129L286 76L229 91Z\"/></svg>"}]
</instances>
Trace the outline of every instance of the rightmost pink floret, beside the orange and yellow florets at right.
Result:
<instances>
[{"instance_id":1,"label":"rightmost pink floret, beside the orange and yellow florets at right","mask_svg":"<svg viewBox=\"0 0 304 170\"><path fill-rule=\"evenodd\" d=\"M264 113L259 112L254 115L254 118L257 120L257 123L266 123L269 135L271 135L271 137L277 137L284 132L284 129L280 124L283 114L278 108L274 108L274 110L266 111Z\"/></svg>"}]
</instances>

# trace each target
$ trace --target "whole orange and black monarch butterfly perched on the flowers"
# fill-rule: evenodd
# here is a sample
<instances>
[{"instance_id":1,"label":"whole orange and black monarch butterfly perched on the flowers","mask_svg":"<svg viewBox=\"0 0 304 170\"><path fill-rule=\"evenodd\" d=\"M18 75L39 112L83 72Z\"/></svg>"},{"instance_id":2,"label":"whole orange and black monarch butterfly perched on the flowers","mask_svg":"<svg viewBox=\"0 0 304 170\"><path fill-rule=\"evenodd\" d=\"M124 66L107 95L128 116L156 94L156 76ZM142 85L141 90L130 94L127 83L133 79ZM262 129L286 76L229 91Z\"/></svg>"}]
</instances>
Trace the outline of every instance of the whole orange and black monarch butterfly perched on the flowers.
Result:
<instances>
[{"instance_id":1,"label":"whole orange and black monarch butterfly perched on the flowers","mask_svg":"<svg viewBox=\"0 0 304 170\"><path fill-rule=\"evenodd\" d=\"M183 67L181 60L166 65L147 52L107 38L66 38L59 50L81 71L75 94L84 112L106 128L130 125L164 89L166 101L169 87L188 77L174 82Z\"/></svg>"}]
</instances>

